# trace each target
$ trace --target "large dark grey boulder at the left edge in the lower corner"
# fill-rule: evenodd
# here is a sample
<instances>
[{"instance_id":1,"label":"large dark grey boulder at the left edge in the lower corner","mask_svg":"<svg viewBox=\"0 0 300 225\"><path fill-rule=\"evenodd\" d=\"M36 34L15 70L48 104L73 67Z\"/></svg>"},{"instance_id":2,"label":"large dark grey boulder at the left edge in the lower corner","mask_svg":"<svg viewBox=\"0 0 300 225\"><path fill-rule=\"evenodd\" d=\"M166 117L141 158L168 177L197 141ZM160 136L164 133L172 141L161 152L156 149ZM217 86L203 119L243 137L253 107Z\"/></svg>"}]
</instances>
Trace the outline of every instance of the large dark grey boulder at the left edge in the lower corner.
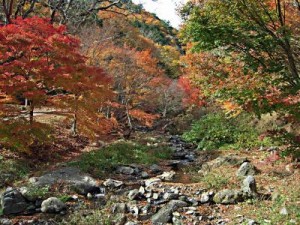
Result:
<instances>
[{"instance_id":1,"label":"large dark grey boulder at the left edge in the lower corner","mask_svg":"<svg viewBox=\"0 0 300 225\"><path fill-rule=\"evenodd\" d=\"M30 204L18 190L12 189L2 194L0 205L4 215L11 215L25 212Z\"/></svg>"}]
</instances>

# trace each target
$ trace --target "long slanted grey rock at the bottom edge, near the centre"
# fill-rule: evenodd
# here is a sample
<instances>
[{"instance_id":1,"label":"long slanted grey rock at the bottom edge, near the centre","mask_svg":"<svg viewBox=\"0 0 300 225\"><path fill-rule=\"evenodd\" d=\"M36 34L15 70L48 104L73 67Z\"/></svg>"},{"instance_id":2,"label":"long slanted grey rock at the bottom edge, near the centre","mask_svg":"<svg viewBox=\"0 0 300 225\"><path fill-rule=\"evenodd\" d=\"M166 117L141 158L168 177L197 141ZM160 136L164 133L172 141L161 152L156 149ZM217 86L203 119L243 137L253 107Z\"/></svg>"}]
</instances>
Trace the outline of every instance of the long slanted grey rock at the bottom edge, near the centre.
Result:
<instances>
[{"instance_id":1,"label":"long slanted grey rock at the bottom edge, near the centre","mask_svg":"<svg viewBox=\"0 0 300 225\"><path fill-rule=\"evenodd\" d=\"M162 207L156 214L151 217L152 224L166 224L171 222L172 213L178 208L186 207L187 203L180 200L172 200Z\"/></svg>"}]
</instances>

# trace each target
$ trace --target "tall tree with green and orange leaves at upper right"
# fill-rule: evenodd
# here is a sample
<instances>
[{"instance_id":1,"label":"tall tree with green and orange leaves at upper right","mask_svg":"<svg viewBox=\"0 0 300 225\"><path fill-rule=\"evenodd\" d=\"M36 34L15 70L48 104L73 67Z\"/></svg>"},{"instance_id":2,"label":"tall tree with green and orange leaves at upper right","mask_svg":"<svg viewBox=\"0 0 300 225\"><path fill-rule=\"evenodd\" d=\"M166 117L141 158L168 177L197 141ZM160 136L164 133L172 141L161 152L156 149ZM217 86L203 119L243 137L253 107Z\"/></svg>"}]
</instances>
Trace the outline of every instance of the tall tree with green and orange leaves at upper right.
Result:
<instances>
[{"instance_id":1,"label":"tall tree with green and orange leaves at upper right","mask_svg":"<svg viewBox=\"0 0 300 225\"><path fill-rule=\"evenodd\" d=\"M192 51L200 52L198 57L214 71L207 69L205 74L200 73L210 82L211 89L219 91L218 97L235 98L248 106L252 101L257 108L264 109L262 112L275 109L267 105L289 104L293 105L290 109L297 108L300 89L297 6L297 2L289 0L200 0L186 6L182 39L191 42ZM214 61L209 62L207 57ZM234 78L231 84L229 78ZM201 80L198 84L207 89L205 79ZM252 85L242 85L246 81ZM234 86L236 82L241 86ZM249 92L251 98L245 97Z\"/></svg>"}]
</instances>

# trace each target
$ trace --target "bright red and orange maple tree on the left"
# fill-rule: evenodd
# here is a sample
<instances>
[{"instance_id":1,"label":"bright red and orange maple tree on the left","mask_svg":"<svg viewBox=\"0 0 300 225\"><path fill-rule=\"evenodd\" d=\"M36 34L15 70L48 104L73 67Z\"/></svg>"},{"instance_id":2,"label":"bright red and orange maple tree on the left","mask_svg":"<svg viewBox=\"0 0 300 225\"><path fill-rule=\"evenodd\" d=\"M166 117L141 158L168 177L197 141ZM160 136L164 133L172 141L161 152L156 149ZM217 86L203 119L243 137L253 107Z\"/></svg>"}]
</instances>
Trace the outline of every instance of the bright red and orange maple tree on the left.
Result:
<instances>
[{"instance_id":1,"label":"bright red and orange maple tree on the left","mask_svg":"<svg viewBox=\"0 0 300 225\"><path fill-rule=\"evenodd\" d=\"M77 124L81 131L101 129L98 107L111 95L110 79L86 65L79 40L64 26L18 18L0 28L0 40L1 94L15 102L27 99L31 123L34 108L54 104L73 117L74 133Z\"/></svg>"}]
</instances>

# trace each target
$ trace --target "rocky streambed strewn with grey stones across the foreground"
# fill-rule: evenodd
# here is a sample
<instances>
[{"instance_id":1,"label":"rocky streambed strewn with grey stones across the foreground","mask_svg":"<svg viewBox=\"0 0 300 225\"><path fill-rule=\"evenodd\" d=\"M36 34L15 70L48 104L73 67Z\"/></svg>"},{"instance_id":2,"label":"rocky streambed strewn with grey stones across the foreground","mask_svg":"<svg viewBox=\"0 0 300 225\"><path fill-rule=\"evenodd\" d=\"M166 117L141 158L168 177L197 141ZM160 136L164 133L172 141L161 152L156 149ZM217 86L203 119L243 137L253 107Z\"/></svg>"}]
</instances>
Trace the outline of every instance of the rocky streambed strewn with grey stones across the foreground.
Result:
<instances>
[{"instance_id":1,"label":"rocky streambed strewn with grey stones across the foreground","mask_svg":"<svg viewBox=\"0 0 300 225\"><path fill-rule=\"evenodd\" d=\"M231 221L222 215L224 206L272 197L258 192L259 171L247 158L199 159L194 146L177 136L170 145L172 159L149 167L120 165L106 180L62 167L9 187L1 194L0 224L257 224L255 218L241 215ZM182 168L194 164L201 164L198 173L203 176L232 166L240 183L235 189L214 190L190 179L180 182Z\"/></svg>"}]
</instances>

